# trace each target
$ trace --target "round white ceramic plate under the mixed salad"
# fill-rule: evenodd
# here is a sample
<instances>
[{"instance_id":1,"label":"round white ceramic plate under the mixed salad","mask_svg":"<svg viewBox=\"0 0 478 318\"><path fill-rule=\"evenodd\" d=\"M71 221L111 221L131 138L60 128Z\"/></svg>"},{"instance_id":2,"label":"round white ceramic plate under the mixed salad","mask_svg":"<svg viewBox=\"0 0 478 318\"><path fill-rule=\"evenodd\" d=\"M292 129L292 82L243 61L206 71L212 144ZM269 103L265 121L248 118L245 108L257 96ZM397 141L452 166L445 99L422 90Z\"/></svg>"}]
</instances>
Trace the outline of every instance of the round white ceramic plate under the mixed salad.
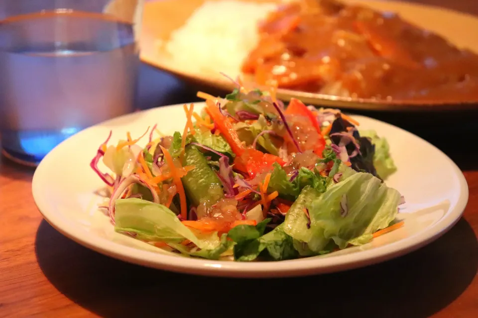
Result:
<instances>
[{"instance_id":1,"label":"round white ceramic plate under the mixed salad","mask_svg":"<svg viewBox=\"0 0 478 318\"><path fill-rule=\"evenodd\" d=\"M203 106L196 104L196 109ZM113 144L124 139L127 131L139 136L156 123L163 133L182 131L186 120L180 105L122 116L61 143L36 169L33 197L54 228L91 249L140 265L201 275L279 277L346 270L408 253L444 234L458 221L468 202L468 186L460 169L417 136L371 118L356 119L360 128L375 129L390 144L398 171L387 184L407 200L399 214L405 226L366 245L328 255L280 262L211 261L165 252L114 232L109 217L97 209L102 197L95 191L103 184L90 169L91 159L110 130Z\"/></svg>"}]
</instances>

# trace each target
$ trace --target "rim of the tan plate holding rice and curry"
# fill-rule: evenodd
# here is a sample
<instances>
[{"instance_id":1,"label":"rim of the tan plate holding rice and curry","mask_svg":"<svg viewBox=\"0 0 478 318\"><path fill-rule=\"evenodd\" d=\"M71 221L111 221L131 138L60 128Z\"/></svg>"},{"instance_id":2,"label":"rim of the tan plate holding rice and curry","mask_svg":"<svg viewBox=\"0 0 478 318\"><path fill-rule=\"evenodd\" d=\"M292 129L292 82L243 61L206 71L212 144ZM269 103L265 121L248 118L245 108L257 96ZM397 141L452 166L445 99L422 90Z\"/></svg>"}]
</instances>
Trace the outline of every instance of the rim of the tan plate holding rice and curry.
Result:
<instances>
[{"instance_id":1,"label":"rim of the tan plate holding rice and curry","mask_svg":"<svg viewBox=\"0 0 478 318\"><path fill-rule=\"evenodd\" d=\"M344 0L345 2L351 3L362 3L368 2L372 3L379 3L382 1L379 0ZM148 1L146 2L145 9L149 6L154 5L157 0ZM407 7L410 9L417 8L420 10L433 10L434 12L442 12L442 14L448 15L455 15L461 16L467 19L474 19L477 21L478 25L478 16L469 14L467 12L462 12L458 10L454 10L447 7L441 7L439 5L433 4L424 4L424 3L414 3L409 1L397 1L397 0L387 0L387 4L396 5L398 7ZM145 32L143 23L143 30ZM146 36L148 40L151 40L149 36ZM143 36L141 36L140 46L144 45L145 41ZM153 45L155 47L155 45ZM146 63L149 66L162 70L164 72L173 74L178 76L182 79L185 79L190 82L199 83L202 85L206 85L211 88L220 89L220 90L232 90L235 86L227 79L221 79L219 76L216 80L207 80L206 77L202 78L199 74L196 73L187 73L184 69L175 67L174 65L165 65L155 62L155 58L153 55L148 53L144 53L141 50L140 59L143 63ZM478 54L478 52L477 52ZM212 74L212 73L208 73ZM219 74L218 74L219 75ZM352 97L342 97L342 96L335 96L335 95L327 95L327 94L320 94L314 92L306 92L300 90L291 90L286 88L278 88L277 89L277 97L289 101L291 98L298 98L303 100L304 102L311 103L314 105L323 105L327 107L337 107L343 109L356 109L356 110L366 110L366 111L373 111L373 110L380 110L386 112L400 112L400 111L410 111L410 112L445 112L445 111L467 111L467 110L477 110L478 109L478 99L476 100L465 100L465 101L457 101L457 102L450 102L446 100L430 100L430 101L420 101L420 100L375 100L372 98L352 98Z\"/></svg>"}]
</instances>

